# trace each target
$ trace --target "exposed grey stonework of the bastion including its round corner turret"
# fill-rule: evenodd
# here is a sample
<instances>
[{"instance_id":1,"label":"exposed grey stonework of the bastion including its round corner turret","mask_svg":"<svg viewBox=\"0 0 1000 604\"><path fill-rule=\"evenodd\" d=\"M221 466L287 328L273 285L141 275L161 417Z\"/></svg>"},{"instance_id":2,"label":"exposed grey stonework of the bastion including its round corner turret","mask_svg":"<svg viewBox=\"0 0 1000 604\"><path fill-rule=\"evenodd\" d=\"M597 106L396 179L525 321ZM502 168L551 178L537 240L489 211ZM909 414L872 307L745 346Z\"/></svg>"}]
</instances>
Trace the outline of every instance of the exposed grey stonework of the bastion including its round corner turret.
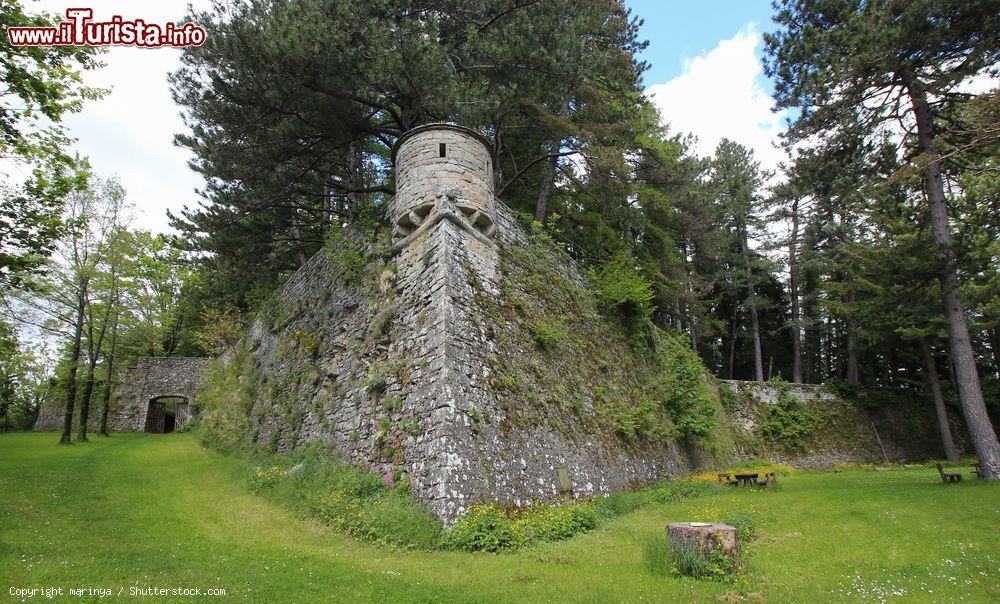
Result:
<instances>
[{"instance_id":1,"label":"exposed grey stonework of the bastion including its round corner turret","mask_svg":"<svg viewBox=\"0 0 1000 604\"><path fill-rule=\"evenodd\" d=\"M478 134L424 126L397 143L395 157L393 243L377 291L336 282L321 253L285 286L290 308L250 330L263 376L251 411L258 444L320 441L380 474L401 472L446 521L473 503L590 497L704 461L670 439L627 445L555 404L512 429L511 401L490 381L503 369L505 335L519 327L483 298L504 280L501 250L527 234L493 196L492 157ZM571 264L565 271L585 282ZM866 446L850 459L873 455Z\"/></svg>"}]
</instances>

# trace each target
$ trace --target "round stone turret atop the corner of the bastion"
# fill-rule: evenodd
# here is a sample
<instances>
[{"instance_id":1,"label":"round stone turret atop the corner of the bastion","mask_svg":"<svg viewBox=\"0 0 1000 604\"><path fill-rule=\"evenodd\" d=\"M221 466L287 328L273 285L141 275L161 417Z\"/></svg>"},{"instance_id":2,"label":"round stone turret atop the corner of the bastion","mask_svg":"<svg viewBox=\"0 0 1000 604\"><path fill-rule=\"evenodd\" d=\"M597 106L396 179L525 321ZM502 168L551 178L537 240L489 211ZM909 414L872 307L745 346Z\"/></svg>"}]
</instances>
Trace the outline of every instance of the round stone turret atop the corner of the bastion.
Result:
<instances>
[{"instance_id":1,"label":"round stone turret atop the corner of the bastion","mask_svg":"<svg viewBox=\"0 0 1000 604\"><path fill-rule=\"evenodd\" d=\"M392 159L396 197L389 216L395 241L433 214L449 211L482 235L492 235L493 155L486 138L454 124L427 124L399 137Z\"/></svg>"}]
</instances>

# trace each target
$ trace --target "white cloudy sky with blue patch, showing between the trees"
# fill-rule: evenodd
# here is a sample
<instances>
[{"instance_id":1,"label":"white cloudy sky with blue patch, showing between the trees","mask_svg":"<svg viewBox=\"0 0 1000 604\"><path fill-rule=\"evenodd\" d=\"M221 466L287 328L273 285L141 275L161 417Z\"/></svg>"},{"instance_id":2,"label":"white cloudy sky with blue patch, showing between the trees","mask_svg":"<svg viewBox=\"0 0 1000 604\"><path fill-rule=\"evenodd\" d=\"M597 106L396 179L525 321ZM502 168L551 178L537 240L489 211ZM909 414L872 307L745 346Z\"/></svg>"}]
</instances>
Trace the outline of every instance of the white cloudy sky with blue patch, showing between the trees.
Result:
<instances>
[{"instance_id":1,"label":"white cloudy sky with blue patch, showing between the trees","mask_svg":"<svg viewBox=\"0 0 1000 604\"><path fill-rule=\"evenodd\" d=\"M192 0L196 7L206 0ZM120 14L163 23L179 20L189 0L27 0L29 10L63 12L88 6L95 19ZM674 132L698 137L697 151L711 154L723 137L751 147L765 167L780 153L773 148L783 116L771 112L770 83L760 56L761 32L771 27L768 0L627 2L644 20L649 47L643 59L650 98ZM209 33L211 35L211 33ZM179 66L173 49L112 48L104 68L87 83L111 88L106 98L67 118L77 149L97 174L117 175L138 208L136 226L165 231L167 210L197 203L201 179L187 167L188 153L173 145L183 129L170 97L167 73Z\"/></svg>"}]
</instances>

